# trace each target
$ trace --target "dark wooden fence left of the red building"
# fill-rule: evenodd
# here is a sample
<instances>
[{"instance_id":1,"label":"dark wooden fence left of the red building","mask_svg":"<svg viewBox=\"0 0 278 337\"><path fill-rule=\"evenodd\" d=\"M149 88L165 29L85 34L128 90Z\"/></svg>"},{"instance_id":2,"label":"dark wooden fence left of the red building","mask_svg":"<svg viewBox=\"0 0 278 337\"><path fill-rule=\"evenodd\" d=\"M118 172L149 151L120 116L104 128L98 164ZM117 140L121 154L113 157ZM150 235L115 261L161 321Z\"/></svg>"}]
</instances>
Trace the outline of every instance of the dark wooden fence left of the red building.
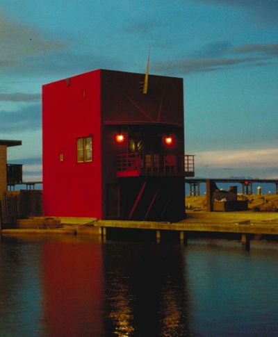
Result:
<instances>
[{"instance_id":1,"label":"dark wooden fence left of the red building","mask_svg":"<svg viewBox=\"0 0 278 337\"><path fill-rule=\"evenodd\" d=\"M1 201L1 222L16 224L18 219L42 215L42 191L5 192Z\"/></svg>"}]
</instances>

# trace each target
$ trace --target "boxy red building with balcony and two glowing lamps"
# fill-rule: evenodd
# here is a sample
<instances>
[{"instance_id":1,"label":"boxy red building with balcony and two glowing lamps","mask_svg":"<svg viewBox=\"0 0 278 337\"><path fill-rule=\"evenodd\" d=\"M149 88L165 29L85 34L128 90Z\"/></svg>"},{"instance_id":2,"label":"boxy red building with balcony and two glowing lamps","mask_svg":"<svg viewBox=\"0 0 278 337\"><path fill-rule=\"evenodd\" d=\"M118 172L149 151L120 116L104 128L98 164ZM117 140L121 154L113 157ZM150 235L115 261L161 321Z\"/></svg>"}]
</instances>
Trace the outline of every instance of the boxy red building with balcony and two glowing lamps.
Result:
<instances>
[{"instance_id":1,"label":"boxy red building with balcony and two glowing lamps","mask_svg":"<svg viewBox=\"0 0 278 337\"><path fill-rule=\"evenodd\" d=\"M98 69L42 87L47 216L184 217L183 81Z\"/></svg>"}]
</instances>

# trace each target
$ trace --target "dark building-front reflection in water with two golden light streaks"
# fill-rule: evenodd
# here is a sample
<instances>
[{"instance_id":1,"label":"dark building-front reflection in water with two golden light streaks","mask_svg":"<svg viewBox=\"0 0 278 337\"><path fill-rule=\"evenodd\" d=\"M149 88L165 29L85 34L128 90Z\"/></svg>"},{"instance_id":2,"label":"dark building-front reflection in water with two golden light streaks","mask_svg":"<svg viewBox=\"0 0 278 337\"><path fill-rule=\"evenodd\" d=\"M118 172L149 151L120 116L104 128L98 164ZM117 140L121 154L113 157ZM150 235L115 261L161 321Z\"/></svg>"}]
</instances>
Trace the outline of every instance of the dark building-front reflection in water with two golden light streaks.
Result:
<instances>
[{"instance_id":1,"label":"dark building-front reflection in water with two golden light streaks","mask_svg":"<svg viewBox=\"0 0 278 337\"><path fill-rule=\"evenodd\" d=\"M142 243L104 246L106 330L117 336L186 336L183 251Z\"/></svg>"}]
</instances>

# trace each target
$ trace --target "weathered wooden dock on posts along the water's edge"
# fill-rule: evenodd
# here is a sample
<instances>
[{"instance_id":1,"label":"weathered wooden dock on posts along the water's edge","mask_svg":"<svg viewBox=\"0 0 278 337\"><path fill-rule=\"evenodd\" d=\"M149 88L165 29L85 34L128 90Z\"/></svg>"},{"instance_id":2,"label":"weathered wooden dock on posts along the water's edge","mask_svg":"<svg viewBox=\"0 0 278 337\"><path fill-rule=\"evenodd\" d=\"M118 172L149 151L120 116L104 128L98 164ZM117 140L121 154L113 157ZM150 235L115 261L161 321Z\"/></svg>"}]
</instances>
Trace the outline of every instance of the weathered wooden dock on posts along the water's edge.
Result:
<instances>
[{"instance_id":1,"label":"weathered wooden dock on posts along the water's edge","mask_svg":"<svg viewBox=\"0 0 278 337\"><path fill-rule=\"evenodd\" d=\"M241 241L247 249L250 249L252 236L271 235L278 239L278 213L265 212L230 212L230 213L206 213L188 212L187 218L181 222L147 222L125 220L97 220L95 218L70 218L55 217L54 222L60 222L62 228L40 226L46 218L33 217L22 220L22 227L17 229L2 229L1 234L22 235L24 233L35 234L84 234L97 235L106 240L110 229L139 229L153 231L156 241L160 242L162 231L177 231L181 243L187 242L187 233L238 233ZM28 224L28 222L30 222ZM49 222L49 218L47 218ZM20 224L20 222L19 222ZM35 227L35 228L34 228Z\"/></svg>"}]
</instances>

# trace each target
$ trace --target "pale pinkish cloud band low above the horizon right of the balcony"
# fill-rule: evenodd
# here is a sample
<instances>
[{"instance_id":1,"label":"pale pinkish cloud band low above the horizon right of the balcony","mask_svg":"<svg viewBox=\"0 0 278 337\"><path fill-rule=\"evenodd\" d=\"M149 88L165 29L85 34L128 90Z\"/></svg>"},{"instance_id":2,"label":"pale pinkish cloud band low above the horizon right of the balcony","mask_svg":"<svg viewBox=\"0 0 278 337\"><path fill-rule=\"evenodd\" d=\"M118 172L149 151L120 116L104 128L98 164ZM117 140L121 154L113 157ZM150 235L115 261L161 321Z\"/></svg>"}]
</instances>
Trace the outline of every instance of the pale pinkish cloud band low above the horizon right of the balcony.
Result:
<instances>
[{"instance_id":1,"label":"pale pinkish cloud band low above the horizon right of the balcony","mask_svg":"<svg viewBox=\"0 0 278 337\"><path fill-rule=\"evenodd\" d=\"M196 153L196 165L222 169L278 167L278 149L250 149L234 151L201 151Z\"/></svg>"}]
</instances>

